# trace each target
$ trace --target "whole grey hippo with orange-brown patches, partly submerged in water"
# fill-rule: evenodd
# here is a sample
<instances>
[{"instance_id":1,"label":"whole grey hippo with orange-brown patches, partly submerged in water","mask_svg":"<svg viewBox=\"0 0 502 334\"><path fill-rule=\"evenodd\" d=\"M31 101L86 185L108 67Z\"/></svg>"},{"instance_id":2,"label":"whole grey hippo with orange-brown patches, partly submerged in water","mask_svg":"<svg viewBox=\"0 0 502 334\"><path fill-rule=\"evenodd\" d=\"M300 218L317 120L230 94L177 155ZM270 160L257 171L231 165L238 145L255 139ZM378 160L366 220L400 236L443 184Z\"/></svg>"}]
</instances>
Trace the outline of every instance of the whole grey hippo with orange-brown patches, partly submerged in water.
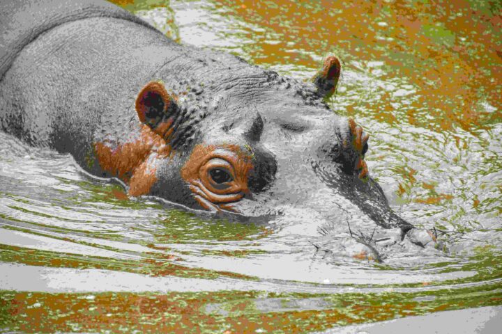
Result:
<instances>
[{"instance_id":1,"label":"whole grey hippo with orange-brown patches, partly submerged in water","mask_svg":"<svg viewBox=\"0 0 502 334\"><path fill-rule=\"evenodd\" d=\"M131 197L243 217L307 210L331 232L352 228L371 250L371 224L397 230L393 242L416 230L370 176L363 127L326 104L340 78L336 56L302 82L180 45L112 3L2 6L3 132L71 154ZM354 211L369 230L347 226Z\"/></svg>"}]
</instances>

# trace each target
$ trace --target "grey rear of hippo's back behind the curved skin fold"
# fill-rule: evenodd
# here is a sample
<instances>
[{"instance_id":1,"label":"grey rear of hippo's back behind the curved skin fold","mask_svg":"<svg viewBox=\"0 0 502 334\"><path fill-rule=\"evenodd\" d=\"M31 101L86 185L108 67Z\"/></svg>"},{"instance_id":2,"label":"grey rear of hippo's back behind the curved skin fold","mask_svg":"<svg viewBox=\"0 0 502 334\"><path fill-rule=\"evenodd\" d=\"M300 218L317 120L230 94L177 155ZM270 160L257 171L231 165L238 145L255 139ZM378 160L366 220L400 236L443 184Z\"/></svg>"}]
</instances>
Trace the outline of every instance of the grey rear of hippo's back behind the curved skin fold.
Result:
<instances>
[{"instance_id":1,"label":"grey rear of hippo's back behind the curved skin fold","mask_svg":"<svg viewBox=\"0 0 502 334\"><path fill-rule=\"evenodd\" d=\"M149 26L128 11L100 0L7 2L2 4L0 11L0 80L26 45L41 33L66 22L90 17L114 17Z\"/></svg>"}]
</instances>

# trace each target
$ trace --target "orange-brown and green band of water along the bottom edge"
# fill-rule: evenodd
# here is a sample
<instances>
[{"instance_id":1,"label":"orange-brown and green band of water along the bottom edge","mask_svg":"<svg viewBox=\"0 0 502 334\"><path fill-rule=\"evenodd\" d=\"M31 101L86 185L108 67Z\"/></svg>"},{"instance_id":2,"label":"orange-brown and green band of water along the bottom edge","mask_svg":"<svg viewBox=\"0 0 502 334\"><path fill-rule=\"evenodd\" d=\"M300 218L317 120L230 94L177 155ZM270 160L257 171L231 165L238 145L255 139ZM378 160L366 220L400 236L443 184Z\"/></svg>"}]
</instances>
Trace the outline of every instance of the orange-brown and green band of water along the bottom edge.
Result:
<instances>
[{"instance_id":1,"label":"orange-brown and green band of water along the bottom edge","mask_svg":"<svg viewBox=\"0 0 502 334\"><path fill-rule=\"evenodd\" d=\"M264 304L262 301L267 300ZM169 294L0 292L0 329L158 333L305 333L443 310L499 305L497 286L433 293L277 294L220 291ZM304 308L298 309L303 302ZM305 304L306 302L306 304ZM288 310L288 308L290 310ZM6 316L8 315L8 317Z\"/></svg>"}]
</instances>

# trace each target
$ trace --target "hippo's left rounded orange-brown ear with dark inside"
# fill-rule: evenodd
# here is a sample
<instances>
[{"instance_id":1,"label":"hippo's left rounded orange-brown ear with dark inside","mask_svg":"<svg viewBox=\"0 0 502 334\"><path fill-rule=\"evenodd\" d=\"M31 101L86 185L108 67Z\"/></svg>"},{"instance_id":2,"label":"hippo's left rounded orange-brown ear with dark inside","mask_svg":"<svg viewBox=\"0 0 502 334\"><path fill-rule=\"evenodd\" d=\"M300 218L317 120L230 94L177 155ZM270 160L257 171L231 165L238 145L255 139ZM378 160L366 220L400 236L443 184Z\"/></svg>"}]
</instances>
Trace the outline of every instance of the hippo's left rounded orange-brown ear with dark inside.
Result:
<instances>
[{"instance_id":1,"label":"hippo's left rounded orange-brown ear with dark inside","mask_svg":"<svg viewBox=\"0 0 502 334\"><path fill-rule=\"evenodd\" d=\"M139 120L155 129L157 125L169 117L172 111L174 99L163 84L151 81L143 87L136 97L136 112Z\"/></svg>"}]
</instances>

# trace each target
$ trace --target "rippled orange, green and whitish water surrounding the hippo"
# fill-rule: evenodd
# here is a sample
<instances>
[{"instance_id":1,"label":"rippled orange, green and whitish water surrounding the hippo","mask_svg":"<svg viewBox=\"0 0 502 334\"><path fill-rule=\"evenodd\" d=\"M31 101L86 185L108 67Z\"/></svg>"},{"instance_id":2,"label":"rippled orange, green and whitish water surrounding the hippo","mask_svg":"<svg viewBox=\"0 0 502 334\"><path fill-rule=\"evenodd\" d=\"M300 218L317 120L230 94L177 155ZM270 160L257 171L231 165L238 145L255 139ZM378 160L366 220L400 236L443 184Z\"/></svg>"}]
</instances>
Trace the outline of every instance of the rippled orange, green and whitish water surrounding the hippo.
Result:
<instances>
[{"instance_id":1,"label":"rippled orange, green and whitish water surrounding the hippo","mask_svg":"<svg viewBox=\"0 0 502 334\"><path fill-rule=\"evenodd\" d=\"M502 304L500 4L119 2L179 42L297 79L340 56L330 105L371 134L393 209L445 247L338 256L315 217L127 198L0 134L1 330L305 333Z\"/></svg>"}]
</instances>

